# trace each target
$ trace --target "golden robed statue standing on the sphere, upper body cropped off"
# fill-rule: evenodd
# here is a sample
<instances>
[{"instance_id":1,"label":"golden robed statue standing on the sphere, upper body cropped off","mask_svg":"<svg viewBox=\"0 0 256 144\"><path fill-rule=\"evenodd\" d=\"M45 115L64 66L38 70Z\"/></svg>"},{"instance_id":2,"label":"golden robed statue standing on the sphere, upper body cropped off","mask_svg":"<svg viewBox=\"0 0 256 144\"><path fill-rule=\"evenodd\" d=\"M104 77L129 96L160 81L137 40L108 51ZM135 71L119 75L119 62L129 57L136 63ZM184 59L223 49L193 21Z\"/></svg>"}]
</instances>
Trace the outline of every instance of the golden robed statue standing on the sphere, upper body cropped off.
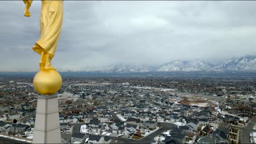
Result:
<instances>
[{"instance_id":1,"label":"golden robed statue standing on the sphere, upper body cropped off","mask_svg":"<svg viewBox=\"0 0 256 144\"><path fill-rule=\"evenodd\" d=\"M23 0L25 3L24 15L30 17L30 6L32 1ZM63 19L63 0L61 1L43 1L40 14L40 38L34 44L33 50L41 55L40 70L54 69L51 65L57 41L59 40Z\"/></svg>"}]
</instances>

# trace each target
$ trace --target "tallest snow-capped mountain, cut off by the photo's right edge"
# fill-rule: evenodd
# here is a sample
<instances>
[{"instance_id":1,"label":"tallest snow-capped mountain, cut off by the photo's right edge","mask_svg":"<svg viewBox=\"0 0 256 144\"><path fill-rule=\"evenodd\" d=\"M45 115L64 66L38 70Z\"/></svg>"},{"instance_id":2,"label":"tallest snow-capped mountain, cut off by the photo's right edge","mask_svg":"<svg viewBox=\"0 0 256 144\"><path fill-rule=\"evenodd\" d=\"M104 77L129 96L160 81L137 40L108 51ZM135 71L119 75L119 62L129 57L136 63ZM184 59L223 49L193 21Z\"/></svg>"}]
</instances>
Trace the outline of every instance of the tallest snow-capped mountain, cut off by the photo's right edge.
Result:
<instances>
[{"instance_id":1,"label":"tallest snow-capped mountain, cut off by the photo's right edge","mask_svg":"<svg viewBox=\"0 0 256 144\"><path fill-rule=\"evenodd\" d=\"M234 57L211 68L212 71L256 71L256 55Z\"/></svg>"}]
</instances>

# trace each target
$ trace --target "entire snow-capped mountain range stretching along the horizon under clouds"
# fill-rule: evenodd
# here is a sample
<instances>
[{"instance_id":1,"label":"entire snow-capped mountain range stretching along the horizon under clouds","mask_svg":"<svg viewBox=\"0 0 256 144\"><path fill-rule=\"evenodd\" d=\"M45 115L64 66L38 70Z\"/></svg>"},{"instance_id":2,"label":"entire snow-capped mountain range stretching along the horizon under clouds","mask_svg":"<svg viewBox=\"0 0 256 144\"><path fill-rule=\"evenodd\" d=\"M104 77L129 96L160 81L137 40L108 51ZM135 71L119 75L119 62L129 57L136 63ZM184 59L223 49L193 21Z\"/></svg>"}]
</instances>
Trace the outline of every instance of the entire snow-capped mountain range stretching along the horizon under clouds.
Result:
<instances>
[{"instance_id":1,"label":"entire snow-capped mountain range stretching along the horizon under clouds","mask_svg":"<svg viewBox=\"0 0 256 144\"><path fill-rule=\"evenodd\" d=\"M62 71L101 71L107 73L147 72L147 71L256 71L256 55L234 57L213 65L209 62L172 61L160 66L116 63L104 67L84 66L77 68L64 67Z\"/></svg>"}]
</instances>

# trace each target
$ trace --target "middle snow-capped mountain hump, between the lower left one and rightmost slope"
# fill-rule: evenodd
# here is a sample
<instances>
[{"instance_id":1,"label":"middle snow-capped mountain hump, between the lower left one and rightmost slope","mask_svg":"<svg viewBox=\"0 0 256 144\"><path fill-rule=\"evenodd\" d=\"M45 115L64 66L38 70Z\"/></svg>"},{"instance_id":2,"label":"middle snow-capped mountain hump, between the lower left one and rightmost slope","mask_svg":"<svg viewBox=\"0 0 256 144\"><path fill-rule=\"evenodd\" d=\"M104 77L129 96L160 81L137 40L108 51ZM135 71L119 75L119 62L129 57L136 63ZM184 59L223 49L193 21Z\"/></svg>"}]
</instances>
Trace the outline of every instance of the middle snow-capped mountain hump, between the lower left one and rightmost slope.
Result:
<instances>
[{"instance_id":1,"label":"middle snow-capped mountain hump, between the lower left one and rightmost slope","mask_svg":"<svg viewBox=\"0 0 256 144\"><path fill-rule=\"evenodd\" d=\"M212 67L212 64L204 61L173 61L161 65L156 71L204 71Z\"/></svg>"}]
</instances>

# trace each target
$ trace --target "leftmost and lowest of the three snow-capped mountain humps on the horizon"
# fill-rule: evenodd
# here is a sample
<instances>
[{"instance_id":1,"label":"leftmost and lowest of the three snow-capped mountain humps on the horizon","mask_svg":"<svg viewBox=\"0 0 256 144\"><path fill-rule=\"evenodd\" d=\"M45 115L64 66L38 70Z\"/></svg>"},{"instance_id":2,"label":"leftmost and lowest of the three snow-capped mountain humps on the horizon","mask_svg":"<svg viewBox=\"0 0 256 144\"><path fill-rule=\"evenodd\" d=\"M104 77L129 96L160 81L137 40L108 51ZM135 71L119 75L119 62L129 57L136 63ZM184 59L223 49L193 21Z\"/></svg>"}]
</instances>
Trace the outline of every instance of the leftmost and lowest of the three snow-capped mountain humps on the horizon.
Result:
<instances>
[{"instance_id":1,"label":"leftmost and lowest of the three snow-capped mountain humps on the horizon","mask_svg":"<svg viewBox=\"0 0 256 144\"><path fill-rule=\"evenodd\" d=\"M146 65L135 65L127 63L117 63L114 65L109 65L104 67L101 71L104 72L115 72L115 73L124 73L124 72L147 72L150 71L150 67Z\"/></svg>"}]
</instances>

